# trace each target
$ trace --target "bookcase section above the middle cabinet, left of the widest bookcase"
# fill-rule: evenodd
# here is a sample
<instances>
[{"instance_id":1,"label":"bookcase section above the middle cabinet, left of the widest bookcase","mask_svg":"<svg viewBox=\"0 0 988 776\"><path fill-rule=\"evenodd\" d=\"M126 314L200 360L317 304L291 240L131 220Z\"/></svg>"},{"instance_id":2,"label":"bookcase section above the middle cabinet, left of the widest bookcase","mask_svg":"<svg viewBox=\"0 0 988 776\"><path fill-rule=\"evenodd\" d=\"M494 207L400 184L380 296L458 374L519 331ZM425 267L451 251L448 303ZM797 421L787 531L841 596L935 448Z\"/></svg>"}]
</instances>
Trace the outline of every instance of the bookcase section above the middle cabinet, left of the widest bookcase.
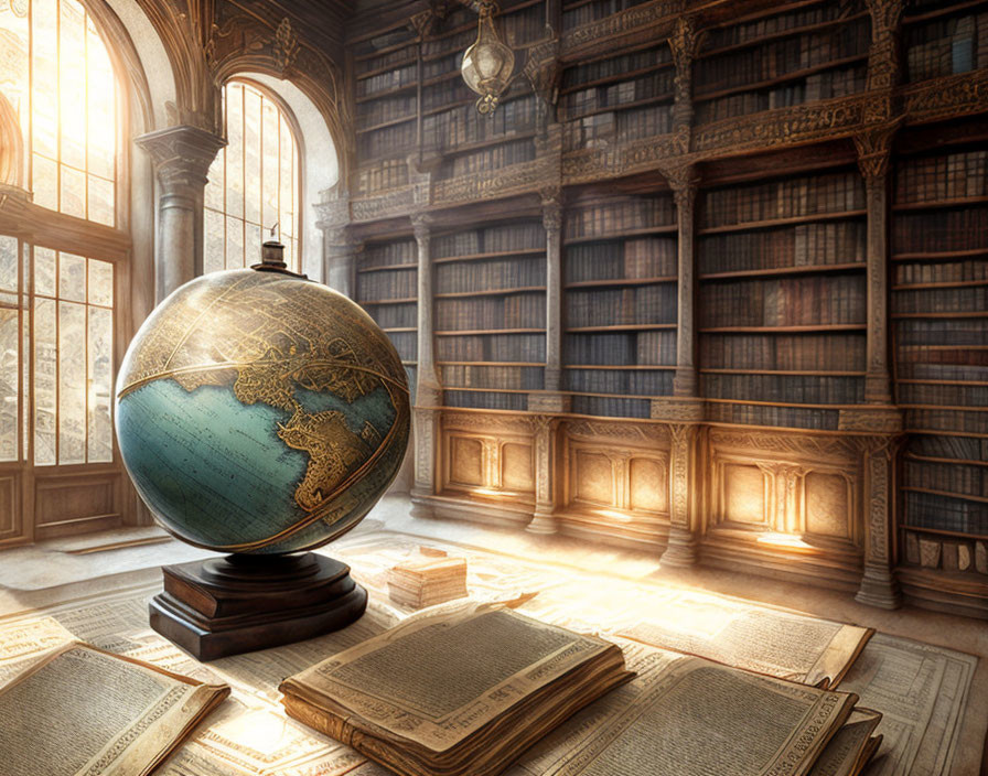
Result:
<instances>
[{"instance_id":1,"label":"bookcase section above the middle cabinet, left of the widest bookcase","mask_svg":"<svg viewBox=\"0 0 988 776\"><path fill-rule=\"evenodd\" d=\"M677 239L672 194L592 193L563 224L563 388L578 414L647 418L673 392Z\"/></svg>"}]
</instances>

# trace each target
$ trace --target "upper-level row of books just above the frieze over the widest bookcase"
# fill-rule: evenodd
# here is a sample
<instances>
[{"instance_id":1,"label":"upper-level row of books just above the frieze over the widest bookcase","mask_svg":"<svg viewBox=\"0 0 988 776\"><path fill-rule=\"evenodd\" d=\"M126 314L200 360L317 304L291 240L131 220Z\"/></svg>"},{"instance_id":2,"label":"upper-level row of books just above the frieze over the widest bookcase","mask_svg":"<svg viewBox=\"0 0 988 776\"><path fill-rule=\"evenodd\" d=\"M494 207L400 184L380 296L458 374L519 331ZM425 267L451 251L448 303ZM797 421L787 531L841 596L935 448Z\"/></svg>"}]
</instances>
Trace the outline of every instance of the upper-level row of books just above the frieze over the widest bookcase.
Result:
<instances>
[{"instance_id":1,"label":"upper-level row of books just above the frieze over the widest bookcase","mask_svg":"<svg viewBox=\"0 0 988 776\"><path fill-rule=\"evenodd\" d=\"M867 83L867 65L863 62L855 63L846 67L814 73L796 80L787 80L781 86L698 101L695 120L697 125L705 125L763 110L846 97L863 91Z\"/></svg>"}]
</instances>

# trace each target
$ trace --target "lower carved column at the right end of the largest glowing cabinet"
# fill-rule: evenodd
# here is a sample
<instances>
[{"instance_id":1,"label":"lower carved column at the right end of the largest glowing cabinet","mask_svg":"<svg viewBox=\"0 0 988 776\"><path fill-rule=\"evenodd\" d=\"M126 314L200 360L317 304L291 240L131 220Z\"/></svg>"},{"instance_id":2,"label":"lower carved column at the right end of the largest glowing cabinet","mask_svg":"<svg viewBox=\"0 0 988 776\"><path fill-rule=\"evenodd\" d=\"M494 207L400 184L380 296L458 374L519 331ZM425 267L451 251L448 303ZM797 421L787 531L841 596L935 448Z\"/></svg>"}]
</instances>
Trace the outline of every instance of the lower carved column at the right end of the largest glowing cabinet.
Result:
<instances>
[{"instance_id":1,"label":"lower carved column at the right end of the largest glowing cabinet","mask_svg":"<svg viewBox=\"0 0 988 776\"><path fill-rule=\"evenodd\" d=\"M899 583L892 574L895 450L899 436L866 436L864 463L864 573L856 601L881 608L898 608L902 603Z\"/></svg>"}]
</instances>

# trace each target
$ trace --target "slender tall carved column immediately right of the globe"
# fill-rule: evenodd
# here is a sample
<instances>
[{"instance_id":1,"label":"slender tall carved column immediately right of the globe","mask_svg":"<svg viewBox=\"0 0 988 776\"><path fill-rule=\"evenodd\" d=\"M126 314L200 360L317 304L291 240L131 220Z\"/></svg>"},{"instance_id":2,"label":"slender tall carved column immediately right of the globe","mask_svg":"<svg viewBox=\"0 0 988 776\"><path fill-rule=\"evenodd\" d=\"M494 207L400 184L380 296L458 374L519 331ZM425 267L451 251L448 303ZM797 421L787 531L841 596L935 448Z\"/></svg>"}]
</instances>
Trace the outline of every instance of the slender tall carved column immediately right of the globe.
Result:
<instances>
[{"instance_id":1,"label":"slender tall carved column immediately right of the globe","mask_svg":"<svg viewBox=\"0 0 988 776\"><path fill-rule=\"evenodd\" d=\"M411 488L412 516L432 514L427 498L436 493L437 451L439 449L439 406L442 389L436 371L434 328L432 313L431 218L425 214L411 217L418 244L418 368L416 375L412 436L415 439L415 485Z\"/></svg>"}]
</instances>

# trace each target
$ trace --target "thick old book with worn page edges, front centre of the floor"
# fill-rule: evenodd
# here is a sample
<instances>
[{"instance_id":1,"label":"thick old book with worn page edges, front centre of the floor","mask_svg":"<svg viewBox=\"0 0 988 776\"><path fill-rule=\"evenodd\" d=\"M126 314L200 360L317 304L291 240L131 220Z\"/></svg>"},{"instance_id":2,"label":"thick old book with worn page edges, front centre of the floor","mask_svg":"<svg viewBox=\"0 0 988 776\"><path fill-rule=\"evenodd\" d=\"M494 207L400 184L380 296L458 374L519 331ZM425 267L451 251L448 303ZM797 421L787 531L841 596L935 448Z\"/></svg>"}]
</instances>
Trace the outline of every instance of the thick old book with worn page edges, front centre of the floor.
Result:
<instances>
[{"instance_id":1,"label":"thick old book with worn page edges, front centre of the floor","mask_svg":"<svg viewBox=\"0 0 988 776\"><path fill-rule=\"evenodd\" d=\"M633 675L613 644L497 606L415 618L281 685L289 715L408 776L494 776Z\"/></svg>"}]
</instances>

